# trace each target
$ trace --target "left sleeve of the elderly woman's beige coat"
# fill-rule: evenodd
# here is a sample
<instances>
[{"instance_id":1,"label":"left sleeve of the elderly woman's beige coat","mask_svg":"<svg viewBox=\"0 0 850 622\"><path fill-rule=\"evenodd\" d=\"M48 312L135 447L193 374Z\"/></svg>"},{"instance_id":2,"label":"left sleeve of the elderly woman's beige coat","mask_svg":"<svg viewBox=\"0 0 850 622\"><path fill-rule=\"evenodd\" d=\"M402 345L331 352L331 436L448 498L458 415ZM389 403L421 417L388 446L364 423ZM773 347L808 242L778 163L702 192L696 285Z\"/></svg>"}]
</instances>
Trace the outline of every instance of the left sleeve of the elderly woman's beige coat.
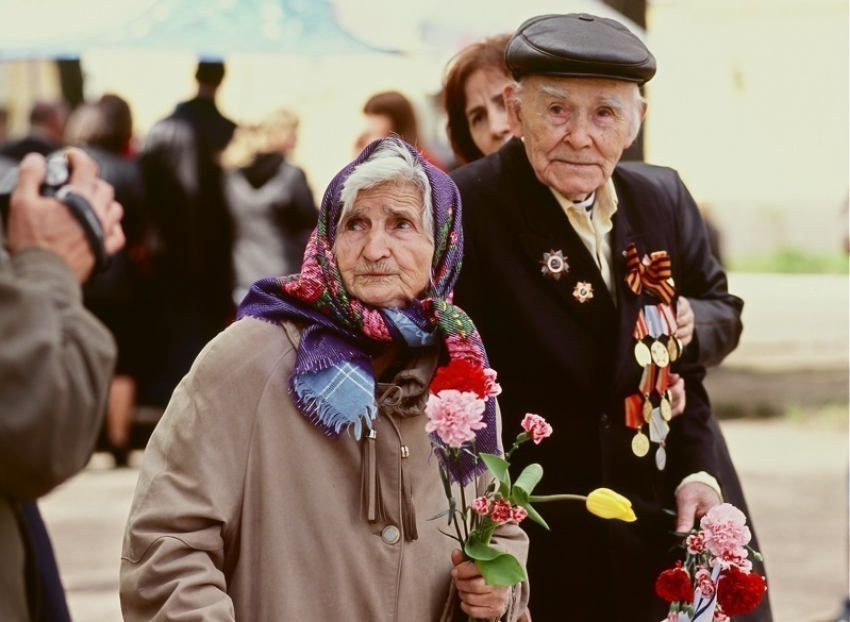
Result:
<instances>
[{"instance_id":1,"label":"left sleeve of the elderly woman's beige coat","mask_svg":"<svg viewBox=\"0 0 850 622\"><path fill-rule=\"evenodd\" d=\"M227 373L235 365L227 338L199 355L145 451L121 555L127 622L235 619L225 553L238 532L251 415L242 425L221 404L242 400L246 413L256 412L260 392L252 396L253 387Z\"/></svg>"}]
</instances>

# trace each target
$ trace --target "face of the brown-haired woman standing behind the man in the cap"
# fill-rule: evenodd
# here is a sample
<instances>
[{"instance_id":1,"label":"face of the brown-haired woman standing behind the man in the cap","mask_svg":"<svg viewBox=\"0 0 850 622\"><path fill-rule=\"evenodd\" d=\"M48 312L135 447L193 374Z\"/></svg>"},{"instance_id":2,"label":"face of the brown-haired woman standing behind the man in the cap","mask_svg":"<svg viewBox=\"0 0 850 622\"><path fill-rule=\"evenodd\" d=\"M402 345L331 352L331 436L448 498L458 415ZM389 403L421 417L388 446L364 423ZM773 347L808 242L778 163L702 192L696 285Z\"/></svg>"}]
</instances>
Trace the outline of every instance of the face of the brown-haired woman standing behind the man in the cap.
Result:
<instances>
[{"instance_id":1,"label":"face of the brown-haired woman standing behind the man in the cap","mask_svg":"<svg viewBox=\"0 0 850 622\"><path fill-rule=\"evenodd\" d=\"M499 150L511 138L502 91L510 78L497 67L476 69L466 81L466 122L475 146L484 155Z\"/></svg>"}]
</instances>

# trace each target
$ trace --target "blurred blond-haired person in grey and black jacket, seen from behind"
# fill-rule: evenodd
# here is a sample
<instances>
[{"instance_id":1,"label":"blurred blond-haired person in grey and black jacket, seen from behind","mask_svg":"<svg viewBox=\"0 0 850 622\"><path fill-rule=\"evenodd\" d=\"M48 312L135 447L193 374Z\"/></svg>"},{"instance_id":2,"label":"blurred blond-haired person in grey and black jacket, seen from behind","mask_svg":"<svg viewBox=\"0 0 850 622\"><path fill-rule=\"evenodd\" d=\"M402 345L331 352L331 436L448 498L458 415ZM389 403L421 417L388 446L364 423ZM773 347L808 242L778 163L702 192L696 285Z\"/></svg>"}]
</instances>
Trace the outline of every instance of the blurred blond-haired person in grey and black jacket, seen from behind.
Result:
<instances>
[{"instance_id":1,"label":"blurred blond-haired person in grey and black jacket, seen from behind","mask_svg":"<svg viewBox=\"0 0 850 622\"><path fill-rule=\"evenodd\" d=\"M301 266L318 213L307 177L286 161L298 140L298 118L278 110L254 127L241 127L222 162L233 218L233 269L239 304L263 277Z\"/></svg>"}]
</instances>

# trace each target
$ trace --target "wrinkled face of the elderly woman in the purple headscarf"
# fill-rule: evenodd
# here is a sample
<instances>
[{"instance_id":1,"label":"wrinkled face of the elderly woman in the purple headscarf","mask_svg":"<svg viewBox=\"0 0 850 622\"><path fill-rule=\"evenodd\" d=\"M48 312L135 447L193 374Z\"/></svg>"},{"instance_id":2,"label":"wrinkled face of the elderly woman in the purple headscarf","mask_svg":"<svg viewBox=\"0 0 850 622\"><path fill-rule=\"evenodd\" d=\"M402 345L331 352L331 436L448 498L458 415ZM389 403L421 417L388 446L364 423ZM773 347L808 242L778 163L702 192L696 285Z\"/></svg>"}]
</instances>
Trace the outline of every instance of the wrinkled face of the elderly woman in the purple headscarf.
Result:
<instances>
[{"instance_id":1,"label":"wrinkled face of the elderly woman in the purple headscarf","mask_svg":"<svg viewBox=\"0 0 850 622\"><path fill-rule=\"evenodd\" d=\"M361 190L337 228L337 266L348 293L375 307L404 307L428 286L434 245L412 184Z\"/></svg>"}]
</instances>

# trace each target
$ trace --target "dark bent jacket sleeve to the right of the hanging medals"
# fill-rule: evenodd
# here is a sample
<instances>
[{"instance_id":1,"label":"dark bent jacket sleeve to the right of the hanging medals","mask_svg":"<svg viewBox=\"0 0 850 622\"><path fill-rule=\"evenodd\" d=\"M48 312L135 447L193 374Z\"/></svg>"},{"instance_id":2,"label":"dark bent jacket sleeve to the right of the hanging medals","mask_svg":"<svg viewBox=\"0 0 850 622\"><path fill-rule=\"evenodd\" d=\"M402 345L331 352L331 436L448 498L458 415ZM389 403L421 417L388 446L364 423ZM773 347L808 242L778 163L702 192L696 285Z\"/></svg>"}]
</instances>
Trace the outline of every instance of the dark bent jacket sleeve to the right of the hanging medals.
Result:
<instances>
[{"instance_id":1,"label":"dark bent jacket sleeve to the right of the hanging medals","mask_svg":"<svg viewBox=\"0 0 850 622\"><path fill-rule=\"evenodd\" d=\"M678 174L668 192L677 206L678 246L683 266L679 293L693 308L696 361L703 367L719 365L738 346L744 302L729 293L726 273L711 254L705 221Z\"/></svg>"}]
</instances>

